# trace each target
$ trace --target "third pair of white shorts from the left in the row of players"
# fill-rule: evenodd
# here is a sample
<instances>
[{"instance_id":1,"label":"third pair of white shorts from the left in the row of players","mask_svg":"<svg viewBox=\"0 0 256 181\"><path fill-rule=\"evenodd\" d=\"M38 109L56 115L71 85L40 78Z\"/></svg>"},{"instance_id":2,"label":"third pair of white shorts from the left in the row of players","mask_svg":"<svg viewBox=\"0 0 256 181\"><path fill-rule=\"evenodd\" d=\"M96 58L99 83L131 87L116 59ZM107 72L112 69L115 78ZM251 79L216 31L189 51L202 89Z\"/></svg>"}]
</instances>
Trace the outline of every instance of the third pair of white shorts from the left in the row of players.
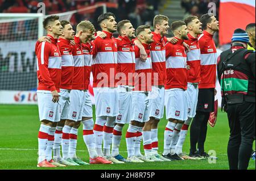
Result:
<instances>
[{"instance_id":1,"label":"third pair of white shorts from the left in the row of players","mask_svg":"<svg viewBox=\"0 0 256 181\"><path fill-rule=\"evenodd\" d=\"M68 119L72 121L82 120L82 111L84 110L84 90L71 90L70 92L70 108Z\"/></svg>"}]
</instances>

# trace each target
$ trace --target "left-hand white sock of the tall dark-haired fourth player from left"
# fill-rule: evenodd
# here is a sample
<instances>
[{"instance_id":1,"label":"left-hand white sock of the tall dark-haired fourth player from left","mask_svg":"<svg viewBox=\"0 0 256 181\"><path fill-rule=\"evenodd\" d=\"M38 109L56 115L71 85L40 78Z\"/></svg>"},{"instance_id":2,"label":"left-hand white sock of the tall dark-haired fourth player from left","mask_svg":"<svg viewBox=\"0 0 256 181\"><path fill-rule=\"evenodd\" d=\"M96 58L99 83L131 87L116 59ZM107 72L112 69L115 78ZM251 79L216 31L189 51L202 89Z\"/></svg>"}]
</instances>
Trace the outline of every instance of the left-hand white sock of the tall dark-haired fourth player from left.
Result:
<instances>
[{"instance_id":1,"label":"left-hand white sock of the tall dark-haired fourth player from left","mask_svg":"<svg viewBox=\"0 0 256 181\"><path fill-rule=\"evenodd\" d=\"M94 124L93 133L95 137L95 149L98 156L102 157L102 141L103 141L103 128L106 123L106 116L96 117L96 123Z\"/></svg>"}]
</instances>

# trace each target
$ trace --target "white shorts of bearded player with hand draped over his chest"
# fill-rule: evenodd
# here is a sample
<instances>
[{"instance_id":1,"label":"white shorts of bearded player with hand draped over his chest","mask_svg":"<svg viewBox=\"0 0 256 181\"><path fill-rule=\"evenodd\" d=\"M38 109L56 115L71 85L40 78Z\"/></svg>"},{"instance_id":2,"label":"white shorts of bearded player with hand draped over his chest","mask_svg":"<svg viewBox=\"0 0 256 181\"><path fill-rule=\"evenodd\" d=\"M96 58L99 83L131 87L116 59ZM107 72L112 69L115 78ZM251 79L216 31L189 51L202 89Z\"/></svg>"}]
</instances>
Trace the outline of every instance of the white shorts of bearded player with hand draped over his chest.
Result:
<instances>
[{"instance_id":1,"label":"white shorts of bearded player with hand draped over his chest","mask_svg":"<svg viewBox=\"0 0 256 181\"><path fill-rule=\"evenodd\" d=\"M137 92L131 93L132 102L132 115L131 121L138 121L146 123L149 120L148 114L148 92Z\"/></svg>"}]
</instances>

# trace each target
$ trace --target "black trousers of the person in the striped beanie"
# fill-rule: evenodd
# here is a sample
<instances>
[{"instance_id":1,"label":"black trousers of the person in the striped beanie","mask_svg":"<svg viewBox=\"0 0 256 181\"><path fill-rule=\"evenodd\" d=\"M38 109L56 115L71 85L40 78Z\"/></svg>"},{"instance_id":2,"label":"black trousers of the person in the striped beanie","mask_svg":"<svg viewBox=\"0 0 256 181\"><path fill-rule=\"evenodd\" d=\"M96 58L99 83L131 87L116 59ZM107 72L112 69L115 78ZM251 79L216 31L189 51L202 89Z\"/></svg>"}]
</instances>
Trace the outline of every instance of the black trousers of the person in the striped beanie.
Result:
<instances>
[{"instance_id":1,"label":"black trousers of the person in the striped beanie","mask_svg":"<svg viewBox=\"0 0 256 181\"><path fill-rule=\"evenodd\" d=\"M246 170L255 138L255 103L229 104L229 169Z\"/></svg>"}]
</instances>

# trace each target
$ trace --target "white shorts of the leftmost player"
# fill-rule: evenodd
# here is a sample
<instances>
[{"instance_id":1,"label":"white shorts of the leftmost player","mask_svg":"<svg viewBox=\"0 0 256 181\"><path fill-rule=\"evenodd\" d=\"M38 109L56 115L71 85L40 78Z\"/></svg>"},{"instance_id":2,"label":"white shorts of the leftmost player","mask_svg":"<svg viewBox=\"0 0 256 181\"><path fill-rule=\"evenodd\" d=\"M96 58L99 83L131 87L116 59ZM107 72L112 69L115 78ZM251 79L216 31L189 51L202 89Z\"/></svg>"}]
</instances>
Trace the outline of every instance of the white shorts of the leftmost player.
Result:
<instances>
[{"instance_id":1,"label":"white shorts of the leftmost player","mask_svg":"<svg viewBox=\"0 0 256 181\"><path fill-rule=\"evenodd\" d=\"M39 110L39 119L48 120L52 122L60 121L60 104L52 102L51 92L39 92L38 95L38 110Z\"/></svg>"}]
</instances>

